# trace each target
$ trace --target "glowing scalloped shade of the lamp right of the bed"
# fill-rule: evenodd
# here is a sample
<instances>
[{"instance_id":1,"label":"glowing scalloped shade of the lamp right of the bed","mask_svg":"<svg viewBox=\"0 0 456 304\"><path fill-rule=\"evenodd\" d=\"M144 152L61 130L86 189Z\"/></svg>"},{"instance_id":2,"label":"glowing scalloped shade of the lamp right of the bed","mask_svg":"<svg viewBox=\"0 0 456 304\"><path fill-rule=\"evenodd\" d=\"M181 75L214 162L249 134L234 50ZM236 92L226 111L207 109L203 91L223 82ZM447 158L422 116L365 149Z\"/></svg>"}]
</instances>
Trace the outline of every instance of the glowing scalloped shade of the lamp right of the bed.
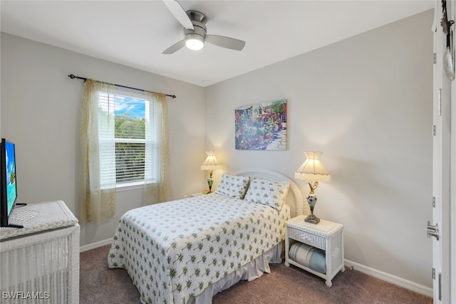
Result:
<instances>
[{"instance_id":1,"label":"glowing scalloped shade of the lamp right of the bed","mask_svg":"<svg viewBox=\"0 0 456 304\"><path fill-rule=\"evenodd\" d=\"M294 178L304 179L311 182L329 182L331 180L331 174L326 171L323 164L321 164L320 155L322 152L307 151L306 161L301 164L301 167L294 172Z\"/></svg>"}]
</instances>

